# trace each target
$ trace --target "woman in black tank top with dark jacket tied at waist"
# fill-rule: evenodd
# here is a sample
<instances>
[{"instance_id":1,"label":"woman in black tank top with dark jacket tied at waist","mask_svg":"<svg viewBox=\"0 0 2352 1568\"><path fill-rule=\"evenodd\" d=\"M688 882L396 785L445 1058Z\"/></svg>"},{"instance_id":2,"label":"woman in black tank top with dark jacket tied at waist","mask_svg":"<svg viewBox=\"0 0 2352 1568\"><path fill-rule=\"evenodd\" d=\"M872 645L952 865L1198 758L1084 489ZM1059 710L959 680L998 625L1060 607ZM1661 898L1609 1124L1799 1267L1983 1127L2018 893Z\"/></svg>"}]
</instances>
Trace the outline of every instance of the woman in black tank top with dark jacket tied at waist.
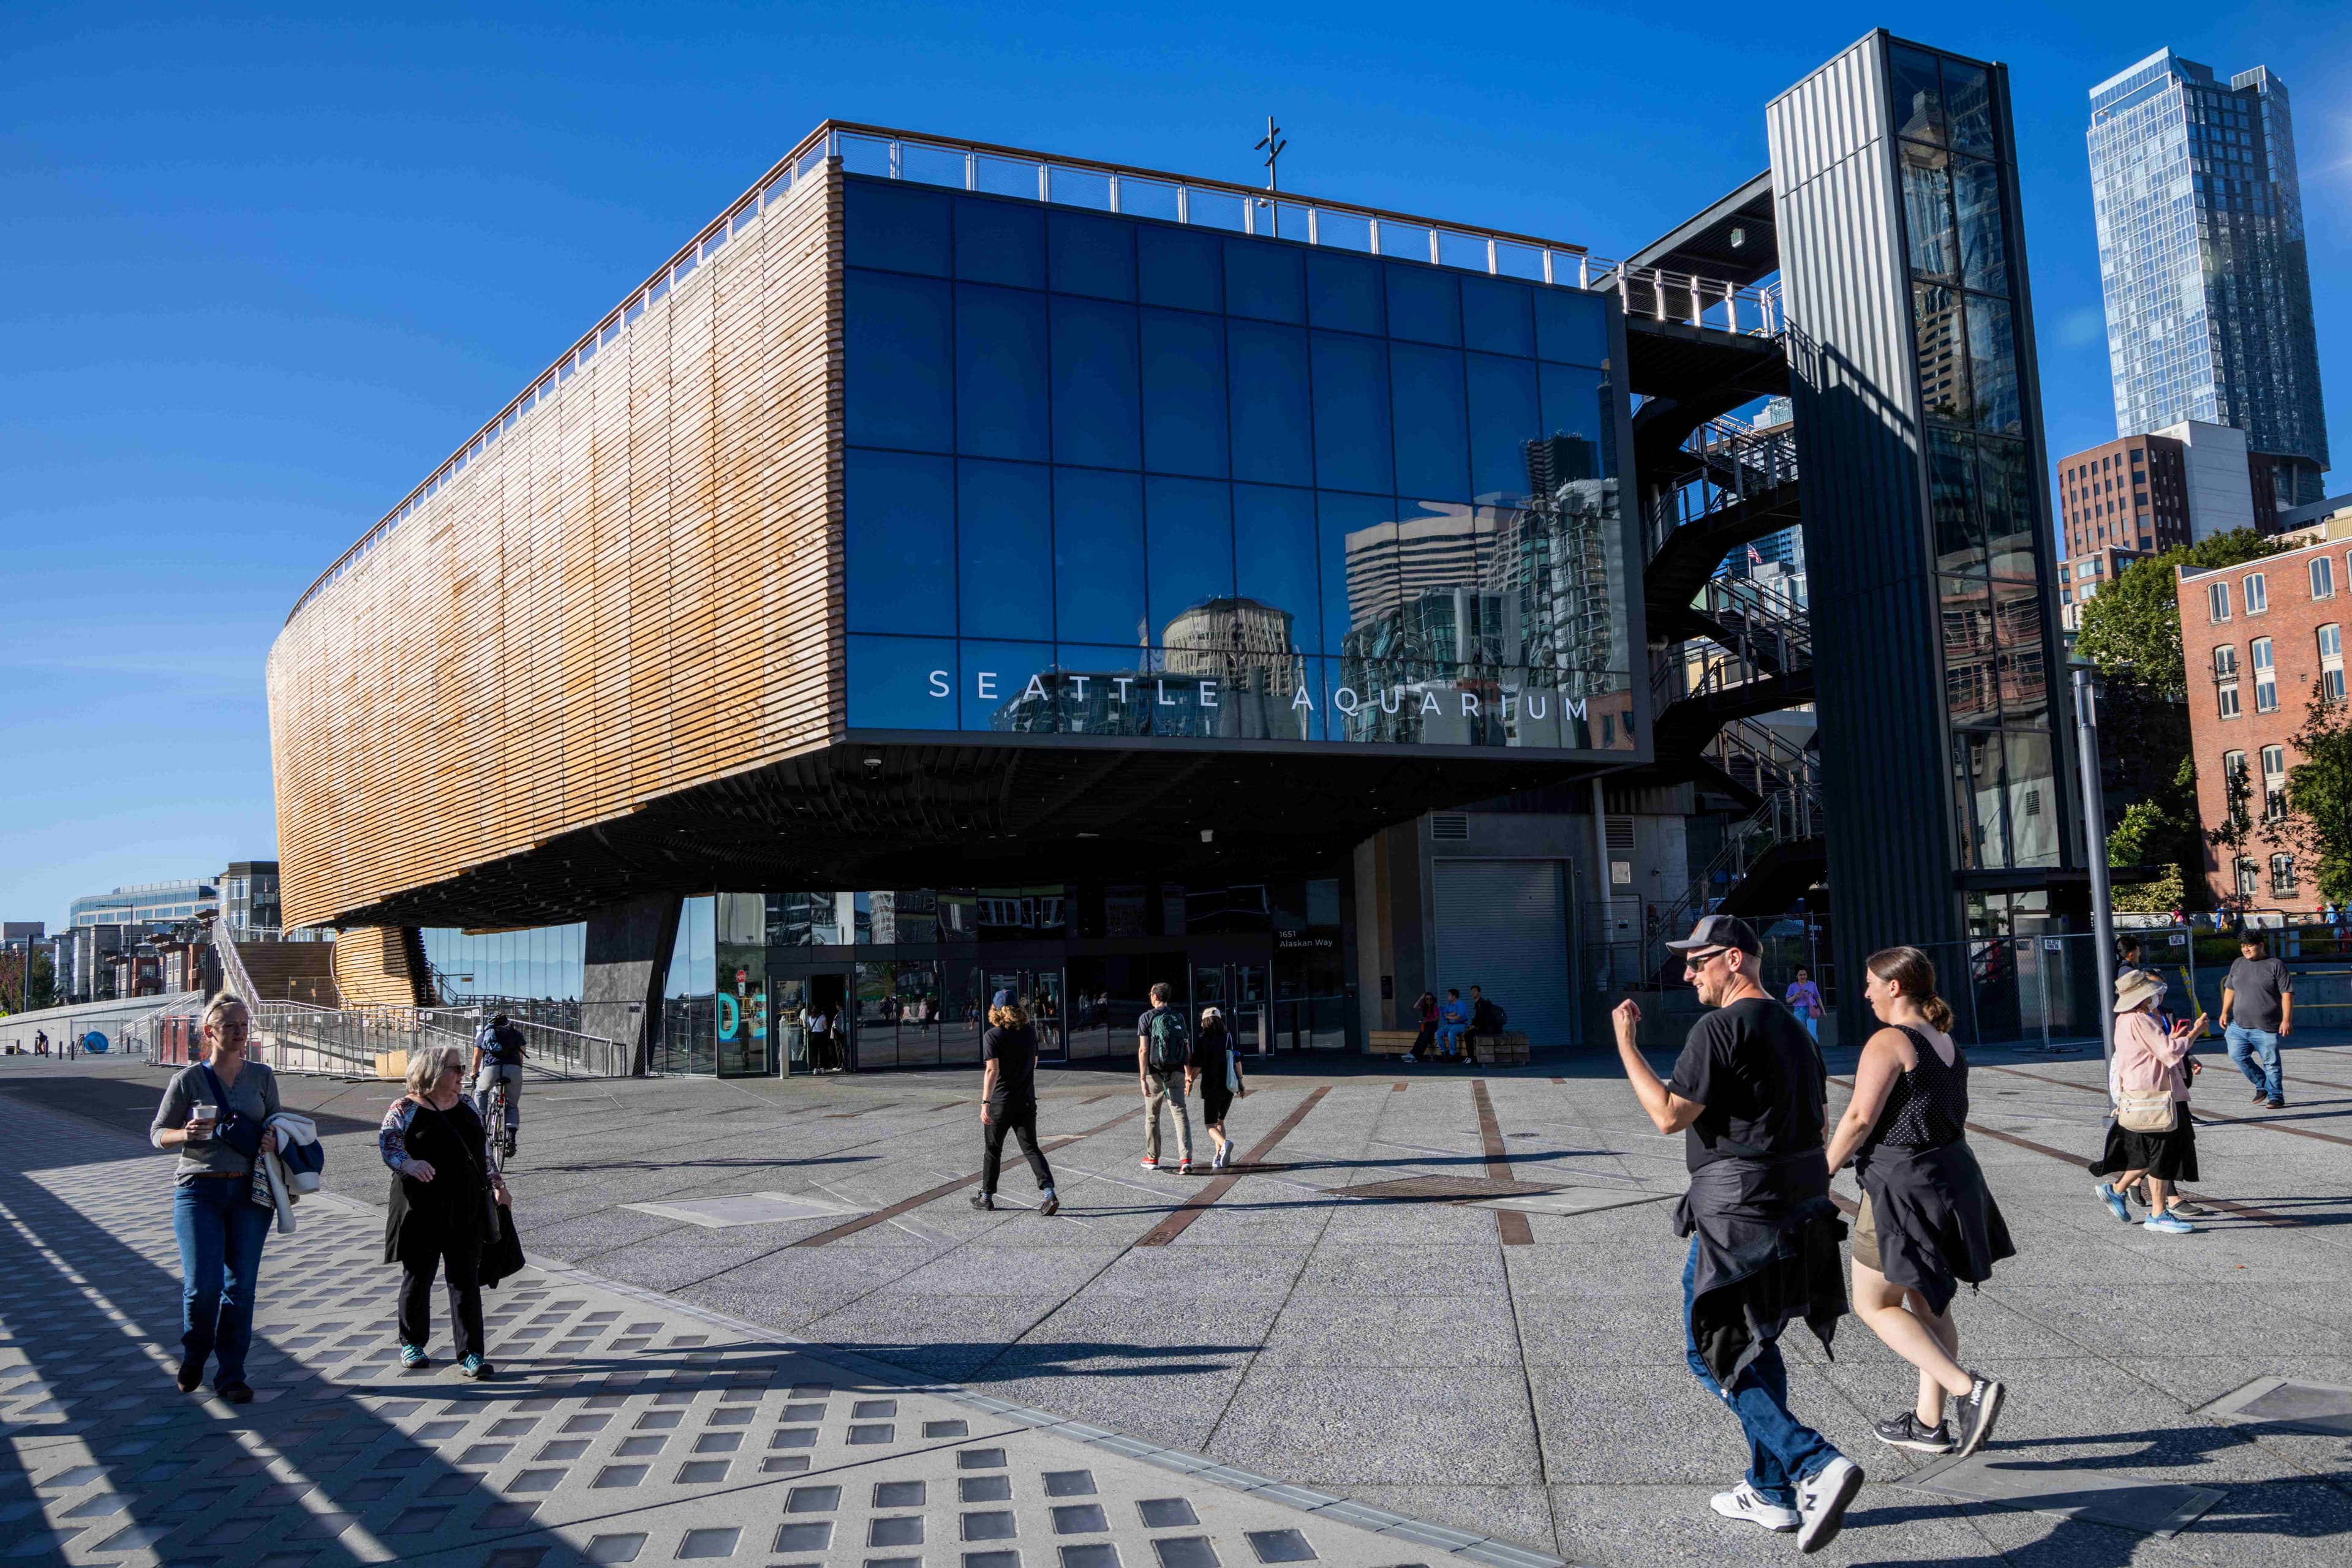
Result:
<instances>
[{"instance_id":1,"label":"woman in black tank top with dark jacket tied at waist","mask_svg":"<svg viewBox=\"0 0 2352 1568\"><path fill-rule=\"evenodd\" d=\"M1969 1150L1969 1058L1950 1037L1936 966L1917 947L1889 947L1865 971L1863 994L1886 1027L1863 1044L1828 1159L1832 1173L1851 1159L1863 1187L1853 1312L1919 1368L1915 1408L1875 1432L1896 1448L1969 1455L1992 1436L2004 1389L1959 1366L1952 1295L2018 1248ZM1945 1425L1945 1394L1955 1425Z\"/></svg>"}]
</instances>

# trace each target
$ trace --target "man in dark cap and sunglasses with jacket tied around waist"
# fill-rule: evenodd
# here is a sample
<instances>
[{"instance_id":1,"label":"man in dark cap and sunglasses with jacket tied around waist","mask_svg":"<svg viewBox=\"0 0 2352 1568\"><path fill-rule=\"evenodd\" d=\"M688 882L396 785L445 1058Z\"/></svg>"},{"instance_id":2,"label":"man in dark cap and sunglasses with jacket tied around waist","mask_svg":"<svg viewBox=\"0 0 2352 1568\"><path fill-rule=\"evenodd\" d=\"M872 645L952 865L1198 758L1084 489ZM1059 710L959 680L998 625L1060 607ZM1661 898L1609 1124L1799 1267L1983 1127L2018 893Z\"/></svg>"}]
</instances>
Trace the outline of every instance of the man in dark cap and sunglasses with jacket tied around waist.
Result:
<instances>
[{"instance_id":1,"label":"man in dark cap and sunglasses with jacket tied around waist","mask_svg":"<svg viewBox=\"0 0 2352 1568\"><path fill-rule=\"evenodd\" d=\"M1762 943L1748 922L1708 914L1679 943L1682 969L1710 1006L1691 1025L1665 1081L1642 1060L1642 1009L1616 1009L1618 1058L1661 1133L1684 1133L1691 1190L1675 1234L1682 1267L1684 1359L1748 1432L1748 1479L1715 1512L1795 1530L1820 1552L1844 1528L1860 1467L1790 1415L1778 1338L1802 1316L1823 1349L1846 1312L1830 1201L1828 1070L1797 1018L1757 978Z\"/></svg>"}]
</instances>

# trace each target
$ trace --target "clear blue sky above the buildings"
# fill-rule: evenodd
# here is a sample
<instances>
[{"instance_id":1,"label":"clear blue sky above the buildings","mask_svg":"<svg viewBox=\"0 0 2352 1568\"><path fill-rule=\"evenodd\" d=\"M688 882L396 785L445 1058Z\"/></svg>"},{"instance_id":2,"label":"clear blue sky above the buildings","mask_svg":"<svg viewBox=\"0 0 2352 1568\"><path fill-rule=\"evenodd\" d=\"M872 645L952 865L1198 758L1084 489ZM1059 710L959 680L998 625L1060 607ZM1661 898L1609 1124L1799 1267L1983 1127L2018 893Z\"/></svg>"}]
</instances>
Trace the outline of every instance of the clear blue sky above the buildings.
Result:
<instances>
[{"instance_id":1,"label":"clear blue sky above the buildings","mask_svg":"<svg viewBox=\"0 0 2352 1568\"><path fill-rule=\"evenodd\" d=\"M2171 45L2296 99L2352 447L2338 5L40 5L0 19L0 914L275 846L294 595L818 120L1625 254L1886 24L2011 66L2053 454L2114 435L2084 94ZM2338 470L2331 489L2345 489Z\"/></svg>"}]
</instances>

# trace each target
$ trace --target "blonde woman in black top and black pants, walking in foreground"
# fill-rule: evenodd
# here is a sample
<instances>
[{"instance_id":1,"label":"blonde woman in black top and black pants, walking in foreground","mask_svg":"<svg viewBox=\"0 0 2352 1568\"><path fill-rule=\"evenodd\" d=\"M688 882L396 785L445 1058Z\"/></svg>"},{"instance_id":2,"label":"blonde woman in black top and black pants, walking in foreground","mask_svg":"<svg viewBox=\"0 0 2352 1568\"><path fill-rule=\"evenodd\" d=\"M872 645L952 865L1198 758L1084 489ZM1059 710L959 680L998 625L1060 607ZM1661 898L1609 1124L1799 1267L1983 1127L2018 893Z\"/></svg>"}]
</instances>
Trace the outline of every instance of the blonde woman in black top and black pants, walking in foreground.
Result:
<instances>
[{"instance_id":1,"label":"blonde woman in black top and black pants, walking in foreground","mask_svg":"<svg viewBox=\"0 0 2352 1568\"><path fill-rule=\"evenodd\" d=\"M400 1366L433 1366L433 1274L449 1279L449 1338L459 1375L489 1378L482 1354L485 1258L494 1279L515 1262L510 1194L489 1164L482 1119L466 1103L466 1053L456 1046L409 1056L409 1091L393 1100L376 1147L393 1173L383 1215L383 1260L400 1265ZM520 1262L517 1262L520 1267ZM494 1281L492 1281L494 1284Z\"/></svg>"}]
</instances>

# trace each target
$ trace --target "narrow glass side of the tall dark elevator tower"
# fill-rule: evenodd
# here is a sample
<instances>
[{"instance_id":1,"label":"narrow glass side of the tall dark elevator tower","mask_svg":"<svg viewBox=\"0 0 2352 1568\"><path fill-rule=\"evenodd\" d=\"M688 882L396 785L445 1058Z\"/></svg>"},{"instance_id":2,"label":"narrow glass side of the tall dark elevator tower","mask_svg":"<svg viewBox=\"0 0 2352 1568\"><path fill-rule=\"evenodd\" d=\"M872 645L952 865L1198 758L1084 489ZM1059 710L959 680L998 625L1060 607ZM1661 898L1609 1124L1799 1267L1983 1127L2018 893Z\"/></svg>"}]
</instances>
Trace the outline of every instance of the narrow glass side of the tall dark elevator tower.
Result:
<instances>
[{"instance_id":1,"label":"narrow glass side of the tall dark elevator tower","mask_svg":"<svg viewBox=\"0 0 2352 1568\"><path fill-rule=\"evenodd\" d=\"M2060 865L2016 214L1983 66L1889 47L1964 867Z\"/></svg>"}]
</instances>

